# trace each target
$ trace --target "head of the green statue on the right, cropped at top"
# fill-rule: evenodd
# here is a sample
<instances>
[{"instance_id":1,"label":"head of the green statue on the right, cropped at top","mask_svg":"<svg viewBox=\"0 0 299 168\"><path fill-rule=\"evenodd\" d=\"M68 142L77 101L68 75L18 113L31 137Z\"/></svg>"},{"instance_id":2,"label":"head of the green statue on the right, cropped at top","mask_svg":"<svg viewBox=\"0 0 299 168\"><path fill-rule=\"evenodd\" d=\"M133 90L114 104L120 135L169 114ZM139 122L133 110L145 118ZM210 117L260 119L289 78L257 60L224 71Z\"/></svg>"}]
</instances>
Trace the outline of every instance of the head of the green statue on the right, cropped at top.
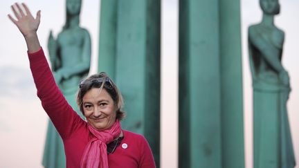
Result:
<instances>
[{"instance_id":1,"label":"head of the green statue on the right, cropped at top","mask_svg":"<svg viewBox=\"0 0 299 168\"><path fill-rule=\"evenodd\" d=\"M260 0L260 7L267 15L278 15L280 13L278 0Z\"/></svg>"}]
</instances>

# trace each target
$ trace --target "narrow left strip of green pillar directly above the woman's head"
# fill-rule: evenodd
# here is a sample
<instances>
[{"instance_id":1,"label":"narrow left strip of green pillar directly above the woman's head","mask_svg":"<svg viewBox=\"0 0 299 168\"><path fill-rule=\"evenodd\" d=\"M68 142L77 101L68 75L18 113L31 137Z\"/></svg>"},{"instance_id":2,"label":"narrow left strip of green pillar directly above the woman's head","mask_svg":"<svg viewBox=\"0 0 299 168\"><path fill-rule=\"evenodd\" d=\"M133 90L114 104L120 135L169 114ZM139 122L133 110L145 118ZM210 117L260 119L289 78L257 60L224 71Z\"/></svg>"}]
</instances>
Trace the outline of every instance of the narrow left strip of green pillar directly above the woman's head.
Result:
<instances>
[{"instance_id":1,"label":"narrow left strip of green pillar directly above the woman's head","mask_svg":"<svg viewBox=\"0 0 299 168\"><path fill-rule=\"evenodd\" d=\"M100 41L98 71L115 78L116 29L118 0L102 0L100 4Z\"/></svg>"}]
</instances>

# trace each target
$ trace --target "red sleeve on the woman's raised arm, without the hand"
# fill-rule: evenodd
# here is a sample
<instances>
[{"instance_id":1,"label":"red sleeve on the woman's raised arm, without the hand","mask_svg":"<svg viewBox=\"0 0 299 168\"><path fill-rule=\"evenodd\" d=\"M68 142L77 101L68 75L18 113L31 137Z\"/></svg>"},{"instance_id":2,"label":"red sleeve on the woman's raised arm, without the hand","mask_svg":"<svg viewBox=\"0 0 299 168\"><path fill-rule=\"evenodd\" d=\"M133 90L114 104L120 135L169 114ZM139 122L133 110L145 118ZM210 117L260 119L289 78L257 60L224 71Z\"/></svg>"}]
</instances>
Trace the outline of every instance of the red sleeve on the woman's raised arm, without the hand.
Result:
<instances>
[{"instance_id":1,"label":"red sleeve on the woman's raised arm, without the hand","mask_svg":"<svg viewBox=\"0 0 299 168\"><path fill-rule=\"evenodd\" d=\"M64 95L55 83L53 74L40 48L36 53L28 53L30 69L37 88L37 96L42 101L42 106L62 139L71 136L84 122L72 107L66 102ZM77 126L77 127L75 127Z\"/></svg>"}]
</instances>

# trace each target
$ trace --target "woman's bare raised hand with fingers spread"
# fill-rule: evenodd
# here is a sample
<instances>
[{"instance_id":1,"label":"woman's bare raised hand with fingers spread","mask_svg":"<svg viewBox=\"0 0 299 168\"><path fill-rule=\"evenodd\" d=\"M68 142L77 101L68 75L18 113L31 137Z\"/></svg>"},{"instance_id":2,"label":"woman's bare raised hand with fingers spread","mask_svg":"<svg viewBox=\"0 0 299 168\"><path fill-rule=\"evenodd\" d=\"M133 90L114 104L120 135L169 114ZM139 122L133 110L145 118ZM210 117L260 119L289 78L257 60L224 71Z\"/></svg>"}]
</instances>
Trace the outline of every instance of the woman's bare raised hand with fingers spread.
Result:
<instances>
[{"instance_id":1,"label":"woman's bare raised hand with fingers spread","mask_svg":"<svg viewBox=\"0 0 299 168\"><path fill-rule=\"evenodd\" d=\"M23 6L24 10L21 6ZM33 18L25 3L21 3L21 6L18 3L11 6L12 12L14 12L17 19L14 19L11 15L8 15L8 17L19 28L24 37L36 35L40 23L40 10L37 12L36 18Z\"/></svg>"}]
</instances>

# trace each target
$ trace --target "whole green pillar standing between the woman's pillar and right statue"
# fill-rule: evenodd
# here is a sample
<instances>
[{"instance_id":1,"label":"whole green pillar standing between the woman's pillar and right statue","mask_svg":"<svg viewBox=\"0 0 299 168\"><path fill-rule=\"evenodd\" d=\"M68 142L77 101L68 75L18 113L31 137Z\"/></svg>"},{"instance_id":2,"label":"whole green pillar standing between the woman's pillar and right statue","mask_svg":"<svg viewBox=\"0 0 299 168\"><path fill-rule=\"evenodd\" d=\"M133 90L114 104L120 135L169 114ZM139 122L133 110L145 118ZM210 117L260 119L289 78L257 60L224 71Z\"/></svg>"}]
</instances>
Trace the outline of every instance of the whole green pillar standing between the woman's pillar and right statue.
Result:
<instances>
[{"instance_id":1,"label":"whole green pillar standing between the woman's pillar and right statue","mask_svg":"<svg viewBox=\"0 0 299 168\"><path fill-rule=\"evenodd\" d=\"M244 167L239 1L179 6L179 167Z\"/></svg>"}]
</instances>

